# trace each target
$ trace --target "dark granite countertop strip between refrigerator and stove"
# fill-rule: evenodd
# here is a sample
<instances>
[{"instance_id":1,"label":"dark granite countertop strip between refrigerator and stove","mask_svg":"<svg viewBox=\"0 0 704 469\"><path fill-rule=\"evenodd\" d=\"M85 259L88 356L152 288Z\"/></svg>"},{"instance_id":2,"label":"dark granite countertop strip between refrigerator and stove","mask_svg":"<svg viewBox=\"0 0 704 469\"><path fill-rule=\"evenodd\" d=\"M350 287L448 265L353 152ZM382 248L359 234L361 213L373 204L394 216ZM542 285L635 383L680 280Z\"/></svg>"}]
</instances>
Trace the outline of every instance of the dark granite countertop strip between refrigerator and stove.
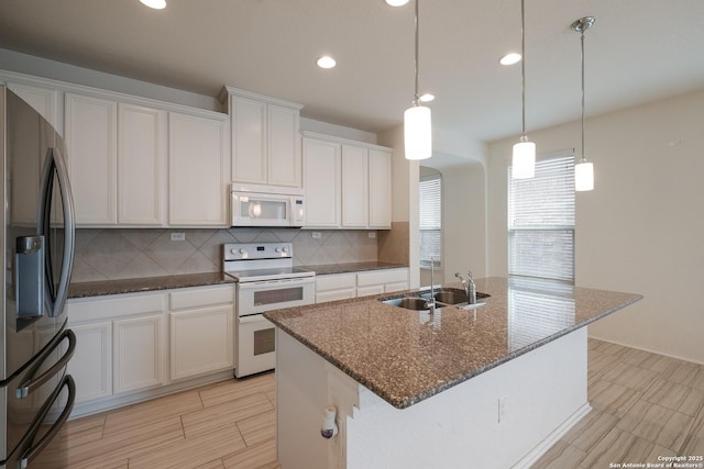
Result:
<instances>
[{"instance_id":1,"label":"dark granite countertop strip between refrigerator and stove","mask_svg":"<svg viewBox=\"0 0 704 469\"><path fill-rule=\"evenodd\" d=\"M68 287L68 298L101 297L103 294L136 293L233 282L231 277L222 272L101 280L72 283Z\"/></svg>"}]
</instances>

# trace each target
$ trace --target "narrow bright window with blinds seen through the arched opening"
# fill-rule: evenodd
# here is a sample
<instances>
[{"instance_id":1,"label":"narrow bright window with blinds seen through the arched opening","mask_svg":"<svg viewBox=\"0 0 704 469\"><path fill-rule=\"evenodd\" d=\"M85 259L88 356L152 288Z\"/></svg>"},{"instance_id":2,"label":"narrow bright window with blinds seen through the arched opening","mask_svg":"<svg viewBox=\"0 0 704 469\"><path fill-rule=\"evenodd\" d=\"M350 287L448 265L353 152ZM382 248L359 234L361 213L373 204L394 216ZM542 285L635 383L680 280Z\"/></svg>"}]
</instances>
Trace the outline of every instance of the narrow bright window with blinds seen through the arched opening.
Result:
<instances>
[{"instance_id":1,"label":"narrow bright window with blinds seen through the arched opening","mask_svg":"<svg viewBox=\"0 0 704 469\"><path fill-rule=\"evenodd\" d=\"M440 174L420 178L420 267L429 268L430 259L441 266L442 255L442 179Z\"/></svg>"}]
</instances>

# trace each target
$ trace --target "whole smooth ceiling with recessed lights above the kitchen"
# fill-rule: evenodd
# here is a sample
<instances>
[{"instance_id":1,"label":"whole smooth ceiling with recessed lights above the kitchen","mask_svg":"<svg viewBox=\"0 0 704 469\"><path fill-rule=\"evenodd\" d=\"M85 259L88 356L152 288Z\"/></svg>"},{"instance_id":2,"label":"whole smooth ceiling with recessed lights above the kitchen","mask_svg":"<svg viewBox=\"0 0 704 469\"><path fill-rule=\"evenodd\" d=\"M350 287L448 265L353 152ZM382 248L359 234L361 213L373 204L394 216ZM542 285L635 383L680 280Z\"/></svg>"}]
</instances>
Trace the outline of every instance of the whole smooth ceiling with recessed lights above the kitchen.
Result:
<instances>
[{"instance_id":1,"label":"whole smooth ceiling with recessed lights above the kitchen","mask_svg":"<svg viewBox=\"0 0 704 469\"><path fill-rule=\"evenodd\" d=\"M2 0L0 47L216 97L223 85L299 102L301 115L378 133L414 96L414 3L384 0ZM420 91L433 129L491 142L520 133L519 0L420 8ZM527 131L704 88L704 1L526 1ZM332 55L322 70L316 59ZM2 64L0 64L2 68Z\"/></svg>"}]
</instances>

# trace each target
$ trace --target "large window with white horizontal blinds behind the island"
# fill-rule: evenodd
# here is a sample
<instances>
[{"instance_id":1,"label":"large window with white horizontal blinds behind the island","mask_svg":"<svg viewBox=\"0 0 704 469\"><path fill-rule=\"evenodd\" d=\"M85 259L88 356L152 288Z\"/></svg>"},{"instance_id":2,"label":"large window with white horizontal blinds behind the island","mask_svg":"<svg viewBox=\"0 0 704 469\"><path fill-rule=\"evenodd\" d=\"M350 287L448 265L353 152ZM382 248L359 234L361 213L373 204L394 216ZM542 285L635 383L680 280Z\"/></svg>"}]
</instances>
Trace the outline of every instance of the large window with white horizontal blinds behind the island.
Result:
<instances>
[{"instance_id":1,"label":"large window with white horizontal blinds behind the island","mask_svg":"<svg viewBox=\"0 0 704 469\"><path fill-rule=\"evenodd\" d=\"M508 273L574 283L574 155L536 163L531 179L508 168Z\"/></svg>"}]
</instances>

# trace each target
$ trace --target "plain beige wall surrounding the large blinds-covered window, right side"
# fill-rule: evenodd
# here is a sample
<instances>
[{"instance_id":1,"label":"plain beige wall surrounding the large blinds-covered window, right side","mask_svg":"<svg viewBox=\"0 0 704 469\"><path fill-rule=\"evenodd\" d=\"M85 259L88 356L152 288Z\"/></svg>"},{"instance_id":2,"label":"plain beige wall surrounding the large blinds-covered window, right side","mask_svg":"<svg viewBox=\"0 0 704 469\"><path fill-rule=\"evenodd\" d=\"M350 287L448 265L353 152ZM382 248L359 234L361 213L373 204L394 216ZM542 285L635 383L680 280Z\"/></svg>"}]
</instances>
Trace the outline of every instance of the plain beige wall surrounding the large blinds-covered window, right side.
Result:
<instances>
[{"instance_id":1,"label":"plain beige wall surrounding the large blinds-covered window, right side","mask_svg":"<svg viewBox=\"0 0 704 469\"><path fill-rule=\"evenodd\" d=\"M576 197L576 284L645 300L590 326L594 337L704 362L704 90L586 121L595 190ZM529 132L538 153L578 147L580 123ZM488 271L507 266L506 168L490 145Z\"/></svg>"}]
</instances>

